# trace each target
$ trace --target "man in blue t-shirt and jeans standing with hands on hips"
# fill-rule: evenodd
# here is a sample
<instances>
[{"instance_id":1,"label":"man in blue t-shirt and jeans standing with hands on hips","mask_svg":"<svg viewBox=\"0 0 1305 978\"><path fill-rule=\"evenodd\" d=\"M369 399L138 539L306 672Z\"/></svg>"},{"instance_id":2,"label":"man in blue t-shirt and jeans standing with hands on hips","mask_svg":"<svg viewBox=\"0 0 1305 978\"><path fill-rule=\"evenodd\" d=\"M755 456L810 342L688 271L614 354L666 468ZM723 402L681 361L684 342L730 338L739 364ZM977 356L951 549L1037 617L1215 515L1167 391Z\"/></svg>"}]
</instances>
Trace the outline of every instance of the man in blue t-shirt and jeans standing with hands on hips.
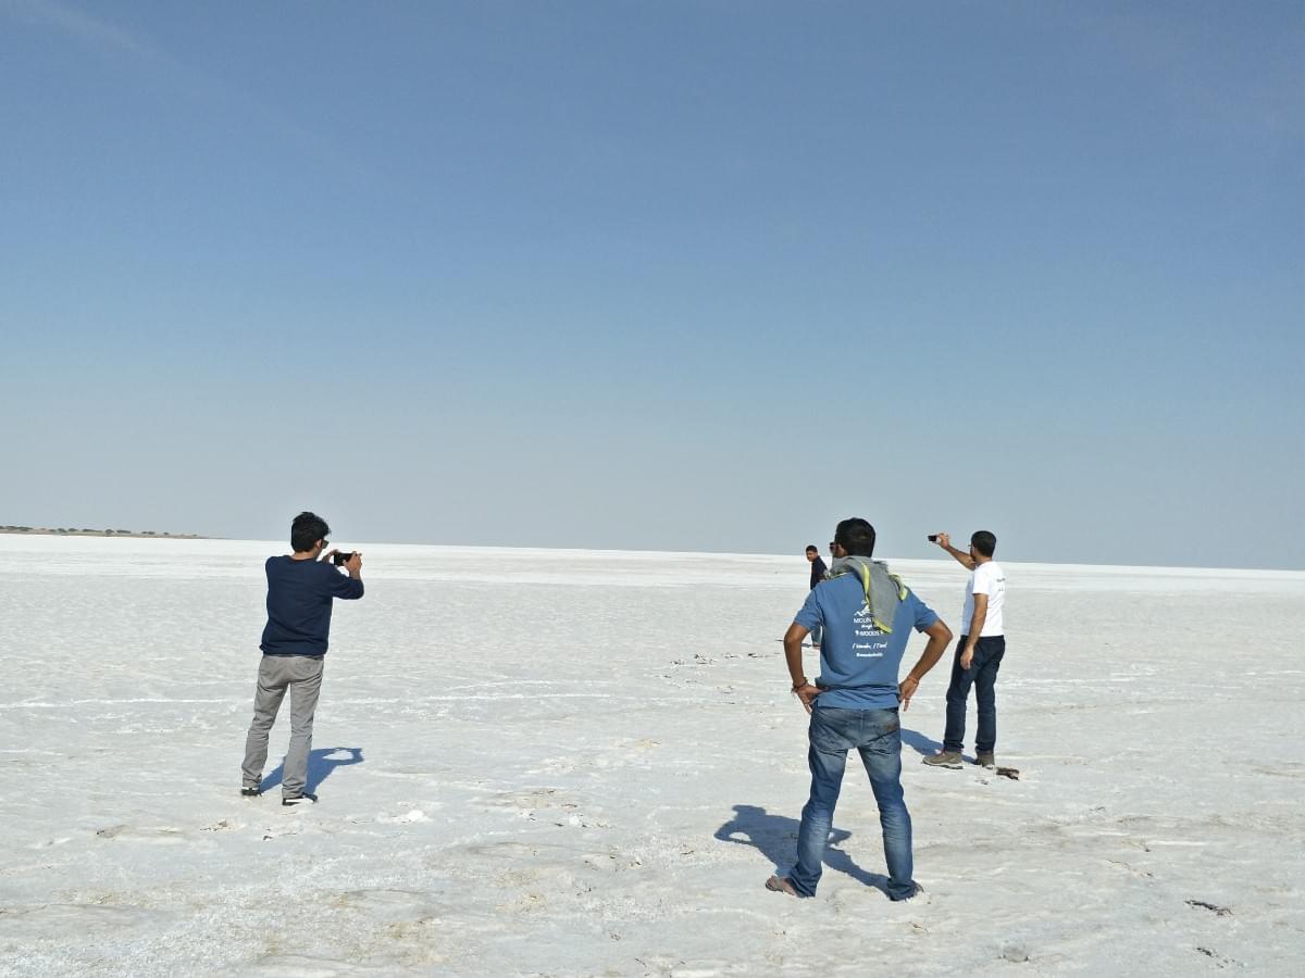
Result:
<instances>
[{"instance_id":1,"label":"man in blue t-shirt and jeans standing with hands on hips","mask_svg":"<svg viewBox=\"0 0 1305 978\"><path fill-rule=\"evenodd\" d=\"M834 566L817 584L788 626L784 659L793 692L810 713L808 763L810 798L797 832L797 863L787 876L771 876L766 888L796 897L816 896L834 806L843 784L847 752L861 755L880 806L883 857L891 900L910 900L920 887L912 878L911 814L902 794L902 726L898 704L911 704L924 678L951 642L951 630L887 565L872 561L874 527L844 519L834 532ZM803 639L823 626L821 674L803 674ZM904 679L898 669L911 629L929 636L924 653Z\"/></svg>"}]
</instances>

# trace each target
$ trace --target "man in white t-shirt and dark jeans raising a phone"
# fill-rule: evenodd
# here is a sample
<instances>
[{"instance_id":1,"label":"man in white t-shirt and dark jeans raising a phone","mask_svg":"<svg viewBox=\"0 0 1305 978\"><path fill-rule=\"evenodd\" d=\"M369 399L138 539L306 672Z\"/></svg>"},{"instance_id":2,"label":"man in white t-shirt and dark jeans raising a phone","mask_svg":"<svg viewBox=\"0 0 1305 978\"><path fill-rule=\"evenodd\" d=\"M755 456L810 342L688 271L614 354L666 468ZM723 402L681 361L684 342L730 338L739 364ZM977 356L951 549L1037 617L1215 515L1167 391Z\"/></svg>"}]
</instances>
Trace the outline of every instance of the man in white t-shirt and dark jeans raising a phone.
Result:
<instances>
[{"instance_id":1,"label":"man in white t-shirt and dark jeans raising a phone","mask_svg":"<svg viewBox=\"0 0 1305 978\"><path fill-rule=\"evenodd\" d=\"M980 529L970 537L970 553L951 545L951 537L938 533L936 542L955 557L970 574L966 584L966 606L960 614L964 634L957 643L947 686L947 728L942 750L924 763L940 768L959 768L966 738L966 700L975 687L979 704L979 730L975 733L975 759L985 768L996 767L997 747L997 670L1006 655L1006 631L1002 606L1006 604L1006 572L992 559L997 537Z\"/></svg>"}]
</instances>

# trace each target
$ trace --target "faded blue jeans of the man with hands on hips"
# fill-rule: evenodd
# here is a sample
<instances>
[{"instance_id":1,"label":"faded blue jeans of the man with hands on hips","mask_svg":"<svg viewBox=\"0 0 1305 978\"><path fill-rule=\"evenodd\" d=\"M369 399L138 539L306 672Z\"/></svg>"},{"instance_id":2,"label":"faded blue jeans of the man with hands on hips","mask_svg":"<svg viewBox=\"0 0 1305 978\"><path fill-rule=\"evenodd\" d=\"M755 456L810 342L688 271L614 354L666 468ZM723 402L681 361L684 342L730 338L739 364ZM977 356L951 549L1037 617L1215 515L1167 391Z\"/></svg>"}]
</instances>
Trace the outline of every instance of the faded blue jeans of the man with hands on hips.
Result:
<instances>
[{"instance_id":1,"label":"faded blue jeans of the man with hands on hips","mask_svg":"<svg viewBox=\"0 0 1305 978\"><path fill-rule=\"evenodd\" d=\"M889 896L894 900L914 896L911 812L902 797L902 725L897 709L839 709L821 707L817 700L808 737L812 797L803 807L803 824L797 831L797 865L788 874L793 889L801 896L816 896L847 752L855 748L861 754L880 806Z\"/></svg>"}]
</instances>

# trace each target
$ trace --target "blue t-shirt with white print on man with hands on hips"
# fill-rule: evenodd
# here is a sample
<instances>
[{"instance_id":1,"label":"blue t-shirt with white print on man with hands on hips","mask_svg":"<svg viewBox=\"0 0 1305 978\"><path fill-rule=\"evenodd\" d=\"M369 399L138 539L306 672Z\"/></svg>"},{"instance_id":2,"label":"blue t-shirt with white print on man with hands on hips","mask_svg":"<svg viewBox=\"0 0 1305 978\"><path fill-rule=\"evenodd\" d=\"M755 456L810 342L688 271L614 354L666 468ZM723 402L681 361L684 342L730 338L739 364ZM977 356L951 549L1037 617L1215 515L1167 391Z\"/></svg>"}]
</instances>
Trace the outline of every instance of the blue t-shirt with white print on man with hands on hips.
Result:
<instances>
[{"instance_id":1,"label":"blue t-shirt with white print on man with hands on hips","mask_svg":"<svg viewBox=\"0 0 1305 978\"><path fill-rule=\"evenodd\" d=\"M893 709L911 629L924 631L938 615L908 589L893 617L893 631L880 631L865 606L861 579L846 574L817 584L793 621L806 631L825 626L816 685L829 691L816 700L818 705Z\"/></svg>"}]
</instances>

